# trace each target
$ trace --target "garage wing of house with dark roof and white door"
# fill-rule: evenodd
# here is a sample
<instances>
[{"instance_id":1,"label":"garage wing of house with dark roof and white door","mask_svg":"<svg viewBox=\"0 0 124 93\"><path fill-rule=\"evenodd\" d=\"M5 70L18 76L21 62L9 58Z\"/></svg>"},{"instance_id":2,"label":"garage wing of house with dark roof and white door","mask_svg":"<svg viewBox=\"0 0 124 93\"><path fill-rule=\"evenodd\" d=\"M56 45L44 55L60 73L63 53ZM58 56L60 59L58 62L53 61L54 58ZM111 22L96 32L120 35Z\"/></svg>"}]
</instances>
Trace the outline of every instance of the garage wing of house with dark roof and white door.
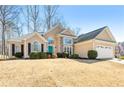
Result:
<instances>
[{"instance_id":1,"label":"garage wing of house with dark roof and white door","mask_svg":"<svg viewBox=\"0 0 124 93\"><path fill-rule=\"evenodd\" d=\"M74 52L81 58L88 58L89 50L96 50L97 59L113 58L115 56L116 40L110 29L105 26L95 31L82 34L74 44Z\"/></svg>"}]
</instances>

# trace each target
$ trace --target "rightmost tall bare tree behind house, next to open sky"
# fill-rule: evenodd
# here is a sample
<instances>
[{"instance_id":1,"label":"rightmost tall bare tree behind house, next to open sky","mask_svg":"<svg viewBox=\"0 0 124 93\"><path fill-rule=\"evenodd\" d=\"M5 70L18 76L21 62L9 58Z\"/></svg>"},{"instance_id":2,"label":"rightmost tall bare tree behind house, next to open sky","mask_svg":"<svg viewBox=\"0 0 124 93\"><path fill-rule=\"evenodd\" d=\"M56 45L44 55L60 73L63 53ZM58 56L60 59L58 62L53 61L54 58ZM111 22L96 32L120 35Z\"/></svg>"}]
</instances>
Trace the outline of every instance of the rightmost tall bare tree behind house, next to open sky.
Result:
<instances>
[{"instance_id":1,"label":"rightmost tall bare tree behind house, next to open sky","mask_svg":"<svg viewBox=\"0 0 124 93\"><path fill-rule=\"evenodd\" d=\"M46 25L46 30L50 29L59 20L57 18L57 10L59 6L56 5L46 5L44 9L44 24Z\"/></svg>"}]
</instances>

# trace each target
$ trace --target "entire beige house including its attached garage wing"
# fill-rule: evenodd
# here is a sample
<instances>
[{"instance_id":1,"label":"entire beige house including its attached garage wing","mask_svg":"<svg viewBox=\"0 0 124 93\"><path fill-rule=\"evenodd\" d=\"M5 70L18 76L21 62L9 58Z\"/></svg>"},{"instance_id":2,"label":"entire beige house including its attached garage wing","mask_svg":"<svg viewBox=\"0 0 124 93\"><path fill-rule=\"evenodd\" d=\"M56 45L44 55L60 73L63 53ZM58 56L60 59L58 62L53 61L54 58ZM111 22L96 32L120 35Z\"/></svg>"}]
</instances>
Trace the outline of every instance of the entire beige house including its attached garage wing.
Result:
<instances>
[{"instance_id":1,"label":"entire beige house including its attached garage wing","mask_svg":"<svg viewBox=\"0 0 124 93\"><path fill-rule=\"evenodd\" d=\"M33 32L6 41L9 57L21 52L24 58L28 58L31 52L49 52L54 55L66 52L69 55L75 53L81 58L87 58L89 50L96 50L98 59L113 58L115 44L116 40L107 26L76 37L73 31L65 29L60 24L44 35Z\"/></svg>"}]
</instances>

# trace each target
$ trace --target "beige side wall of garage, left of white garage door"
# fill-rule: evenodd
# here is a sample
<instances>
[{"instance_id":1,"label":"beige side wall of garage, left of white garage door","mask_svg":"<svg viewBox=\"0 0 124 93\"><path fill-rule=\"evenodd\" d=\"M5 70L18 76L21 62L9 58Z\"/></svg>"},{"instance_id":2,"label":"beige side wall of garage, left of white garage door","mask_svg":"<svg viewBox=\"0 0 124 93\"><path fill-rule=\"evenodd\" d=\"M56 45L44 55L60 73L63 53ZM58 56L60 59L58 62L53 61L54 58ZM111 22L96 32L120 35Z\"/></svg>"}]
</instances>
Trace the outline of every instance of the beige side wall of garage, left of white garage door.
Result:
<instances>
[{"instance_id":1,"label":"beige side wall of garage, left of white garage door","mask_svg":"<svg viewBox=\"0 0 124 93\"><path fill-rule=\"evenodd\" d=\"M93 49L93 40L77 43L74 45L74 52L79 54L81 58L87 58L89 50Z\"/></svg>"}]
</instances>

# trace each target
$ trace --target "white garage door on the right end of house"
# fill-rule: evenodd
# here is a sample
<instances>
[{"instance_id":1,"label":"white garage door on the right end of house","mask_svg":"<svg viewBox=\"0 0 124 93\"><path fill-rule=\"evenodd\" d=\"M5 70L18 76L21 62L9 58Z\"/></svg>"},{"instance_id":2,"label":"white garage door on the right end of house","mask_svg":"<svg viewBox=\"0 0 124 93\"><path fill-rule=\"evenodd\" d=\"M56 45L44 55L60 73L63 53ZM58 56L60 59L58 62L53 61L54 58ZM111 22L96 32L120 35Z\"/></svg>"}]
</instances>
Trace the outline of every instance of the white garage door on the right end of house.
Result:
<instances>
[{"instance_id":1,"label":"white garage door on the right end of house","mask_svg":"<svg viewBox=\"0 0 124 93\"><path fill-rule=\"evenodd\" d=\"M113 58L113 48L111 46L96 46L96 51L98 53L98 59Z\"/></svg>"}]
</instances>

